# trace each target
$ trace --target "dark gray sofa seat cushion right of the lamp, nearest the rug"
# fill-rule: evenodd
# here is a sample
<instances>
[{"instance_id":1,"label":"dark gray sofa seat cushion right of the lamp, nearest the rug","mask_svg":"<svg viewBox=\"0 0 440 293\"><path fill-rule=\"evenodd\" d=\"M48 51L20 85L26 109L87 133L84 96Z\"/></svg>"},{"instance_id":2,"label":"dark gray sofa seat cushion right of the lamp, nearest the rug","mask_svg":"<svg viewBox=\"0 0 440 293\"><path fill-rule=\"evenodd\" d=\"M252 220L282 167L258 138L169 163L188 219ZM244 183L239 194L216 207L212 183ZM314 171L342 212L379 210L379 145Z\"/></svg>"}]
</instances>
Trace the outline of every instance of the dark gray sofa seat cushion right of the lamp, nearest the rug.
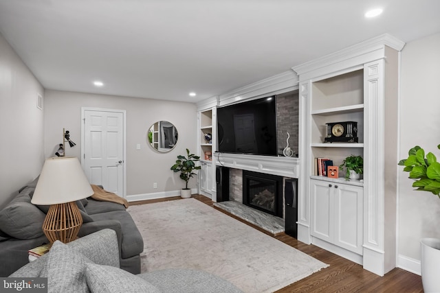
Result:
<instances>
[{"instance_id":1,"label":"dark gray sofa seat cushion right of the lamp, nearest the rug","mask_svg":"<svg viewBox=\"0 0 440 293\"><path fill-rule=\"evenodd\" d=\"M89 204L91 200L89 200ZM122 247L121 256L123 259L139 255L144 251L144 240L140 235L137 226L131 218L131 215L124 211L109 211L107 213L96 213L90 215L95 221L101 220L118 220L122 226Z\"/></svg>"}]
</instances>

